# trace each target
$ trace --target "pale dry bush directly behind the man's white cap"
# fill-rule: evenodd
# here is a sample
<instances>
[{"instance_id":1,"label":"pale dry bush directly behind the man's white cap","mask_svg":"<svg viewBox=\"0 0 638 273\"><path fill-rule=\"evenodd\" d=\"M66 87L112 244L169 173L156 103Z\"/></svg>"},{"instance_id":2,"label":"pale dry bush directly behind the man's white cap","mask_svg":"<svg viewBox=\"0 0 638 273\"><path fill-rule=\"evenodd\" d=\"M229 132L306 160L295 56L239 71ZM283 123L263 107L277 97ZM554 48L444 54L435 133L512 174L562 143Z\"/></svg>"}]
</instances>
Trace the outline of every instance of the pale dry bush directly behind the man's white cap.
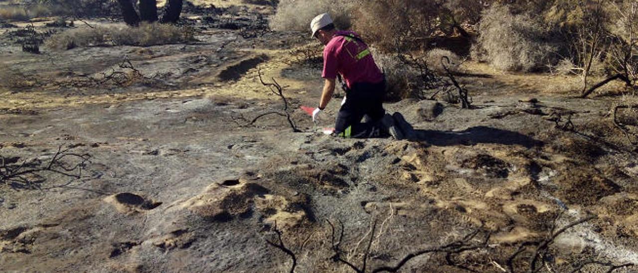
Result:
<instances>
[{"instance_id":1,"label":"pale dry bush directly behind the man's white cap","mask_svg":"<svg viewBox=\"0 0 638 273\"><path fill-rule=\"evenodd\" d=\"M356 0L281 0L270 26L275 31L308 31L316 15L329 13L338 29L350 28L350 14Z\"/></svg>"}]
</instances>

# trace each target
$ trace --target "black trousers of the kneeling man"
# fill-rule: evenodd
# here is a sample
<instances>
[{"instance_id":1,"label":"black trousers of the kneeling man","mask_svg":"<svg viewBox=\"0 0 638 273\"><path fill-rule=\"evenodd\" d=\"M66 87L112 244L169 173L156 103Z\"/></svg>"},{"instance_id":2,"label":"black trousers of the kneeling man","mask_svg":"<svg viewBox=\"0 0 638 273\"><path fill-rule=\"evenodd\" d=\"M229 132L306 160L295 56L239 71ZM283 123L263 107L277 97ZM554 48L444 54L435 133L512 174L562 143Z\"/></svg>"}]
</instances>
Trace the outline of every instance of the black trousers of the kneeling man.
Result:
<instances>
[{"instance_id":1,"label":"black trousers of the kneeling man","mask_svg":"<svg viewBox=\"0 0 638 273\"><path fill-rule=\"evenodd\" d=\"M341 105L334 131L340 136L352 138L371 138L383 135L380 119L385 115L383 97L385 80L378 84L353 84L346 91L346 102ZM364 115L369 121L362 123Z\"/></svg>"}]
</instances>

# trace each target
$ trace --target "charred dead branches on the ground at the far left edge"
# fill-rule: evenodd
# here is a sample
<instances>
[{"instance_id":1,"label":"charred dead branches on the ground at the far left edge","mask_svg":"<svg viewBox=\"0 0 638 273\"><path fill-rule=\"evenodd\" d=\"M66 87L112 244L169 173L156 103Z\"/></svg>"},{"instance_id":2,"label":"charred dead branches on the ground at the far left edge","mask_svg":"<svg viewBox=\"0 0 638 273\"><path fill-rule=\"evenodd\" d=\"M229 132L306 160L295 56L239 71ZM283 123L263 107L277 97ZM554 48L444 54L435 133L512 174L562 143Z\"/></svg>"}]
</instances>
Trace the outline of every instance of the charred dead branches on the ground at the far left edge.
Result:
<instances>
[{"instance_id":1,"label":"charred dead branches on the ground at the far left edge","mask_svg":"<svg viewBox=\"0 0 638 273\"><path fill-rule=\"evenodd\" d=\"M38 188L46 179L43 173L57 173L66 177L80 179L82 170L91 163L89 154L70 152L71 148L58 147L56 154L47 162L41 159L24 160L20 158L4 158L0 156L0 184L7 184L15 189ZM75 163L71 162L75 159ZM77 172L77 174L75 173Z\"/></svg>"}]
</instances>

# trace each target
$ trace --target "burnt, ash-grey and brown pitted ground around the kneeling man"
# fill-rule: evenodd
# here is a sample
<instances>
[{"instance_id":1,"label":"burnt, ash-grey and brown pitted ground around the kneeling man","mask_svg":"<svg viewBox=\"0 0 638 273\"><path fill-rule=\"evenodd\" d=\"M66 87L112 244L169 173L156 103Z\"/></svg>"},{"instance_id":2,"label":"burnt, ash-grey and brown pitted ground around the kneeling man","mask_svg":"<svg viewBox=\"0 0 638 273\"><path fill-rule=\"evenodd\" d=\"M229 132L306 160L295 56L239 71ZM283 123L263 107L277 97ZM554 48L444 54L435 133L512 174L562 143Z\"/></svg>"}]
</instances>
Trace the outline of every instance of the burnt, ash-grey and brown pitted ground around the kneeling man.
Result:
<instances>
[{"instance_id":1,"label":"burnt, ash-grey and brown pitted ground around the kneeling man","mask_svg":"<svg viewBox=\"0 0 638 273\"><path fill-rule=\"evenodd\" d=\"M246 22L272 12L244 11ZM62 146L91 156L81 179L0 185L3 271L284 272L290 258L266 242L276 226L297 272L351 272L331 260L328 221L341 221L341 258L357 266L376 222L368 269L478 231L467 243L489 234L482 247L418 256L401 272L503 272L521 244L588 215L597 218L553 240L541 270L638 263L638 158L611 120L619 97L579 99L553 88L564 78L468 63L459 80L475 108L385 105L419 140L333 138L297 110L316 104L322 84L317 68L291 61L305 33L244 38L201 18L199 41L186 45L33 55L6 36L17 28L3 34L0 155L47 161ZM124 56L139 74L119 67ZM135 77L87 82L112 69ZM301 133L277 115L247 125L282 107L258 73L284 87ZM636 125L631 114L621 119ZM511 260L516 272L533 248Z\"/></svg>"}]
</instances>

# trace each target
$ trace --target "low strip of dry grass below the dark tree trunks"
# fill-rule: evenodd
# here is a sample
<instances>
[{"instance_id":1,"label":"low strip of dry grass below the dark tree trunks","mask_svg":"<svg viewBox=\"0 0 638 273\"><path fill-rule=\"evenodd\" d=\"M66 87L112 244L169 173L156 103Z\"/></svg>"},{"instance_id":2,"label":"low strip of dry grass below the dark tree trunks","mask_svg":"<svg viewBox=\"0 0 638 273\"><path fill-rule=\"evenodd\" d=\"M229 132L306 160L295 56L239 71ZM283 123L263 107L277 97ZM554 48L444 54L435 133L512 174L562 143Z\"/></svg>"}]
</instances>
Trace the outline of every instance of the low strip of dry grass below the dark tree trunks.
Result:
<instances>
[{"instance_id":1,"label":"low strip of dry grass below the dark tree trunks","mask_svg":"<svg viewBox=\"0 0 638 273\"><path fill-rule=\"evenodd\" d=\"M48 48L134 45L148 47L193 41L193 31L169 24L142 24L139 27L94 27L70 29L45 41Z\"/></svg>"}]
</instances>

